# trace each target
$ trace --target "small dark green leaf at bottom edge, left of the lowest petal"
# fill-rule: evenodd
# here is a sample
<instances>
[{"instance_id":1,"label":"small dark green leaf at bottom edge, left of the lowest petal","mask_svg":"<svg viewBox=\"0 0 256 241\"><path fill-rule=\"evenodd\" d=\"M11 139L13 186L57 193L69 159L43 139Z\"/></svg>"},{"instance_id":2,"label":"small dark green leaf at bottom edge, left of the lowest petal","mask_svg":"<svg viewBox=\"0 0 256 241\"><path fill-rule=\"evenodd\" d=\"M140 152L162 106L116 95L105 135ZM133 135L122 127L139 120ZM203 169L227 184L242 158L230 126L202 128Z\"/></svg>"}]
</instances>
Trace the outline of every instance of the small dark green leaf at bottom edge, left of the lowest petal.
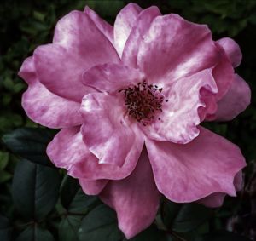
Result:
<instances>
[{"instance_id":1,"label":"small dark green leaf at bottom edge, left of the lowest petal","mask_svg":"<svg viewBox=\"0 0 256 241\"><path fill-rule=\"evenodd\" d=\"M79 241L78 231L82 218L79 215L67 215L62 219L59 227L59 239L61 241Z\"/></svg>"}]
</instances>

